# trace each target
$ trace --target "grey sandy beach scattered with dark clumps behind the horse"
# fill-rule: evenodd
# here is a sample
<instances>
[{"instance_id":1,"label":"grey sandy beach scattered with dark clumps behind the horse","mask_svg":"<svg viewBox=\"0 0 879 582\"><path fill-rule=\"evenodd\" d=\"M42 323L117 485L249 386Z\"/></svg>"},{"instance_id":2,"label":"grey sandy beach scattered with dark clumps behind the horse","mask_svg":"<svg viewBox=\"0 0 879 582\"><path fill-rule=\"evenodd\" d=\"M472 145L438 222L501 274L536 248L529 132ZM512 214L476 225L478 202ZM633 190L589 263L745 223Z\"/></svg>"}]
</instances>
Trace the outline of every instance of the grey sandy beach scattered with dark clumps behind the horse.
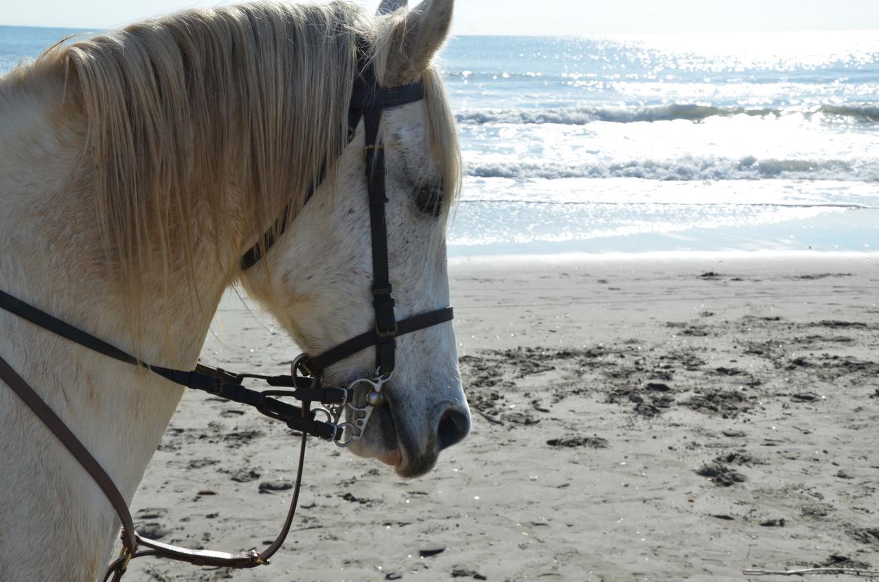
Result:
<instances>
[{"instance_id":1,"label":"grey sandy beach scattered with dark clumps behind the horse","mask_svg":"<svg viewBox=\"0 0 879 582\"><path fill-rule=\"evenodd\" d=\"M877 283L875 254L456 259L468 440L412 481L313 440L300 515L270 566L148 558L126 579L879 569ZM214 331L204 359L232 369L281 372L296 353L235 296ZM260 548L290 492L260 487L293 479L295 444L279 423L189 394L137 521L166 542Z\"/></svg>"}]
</instances>

